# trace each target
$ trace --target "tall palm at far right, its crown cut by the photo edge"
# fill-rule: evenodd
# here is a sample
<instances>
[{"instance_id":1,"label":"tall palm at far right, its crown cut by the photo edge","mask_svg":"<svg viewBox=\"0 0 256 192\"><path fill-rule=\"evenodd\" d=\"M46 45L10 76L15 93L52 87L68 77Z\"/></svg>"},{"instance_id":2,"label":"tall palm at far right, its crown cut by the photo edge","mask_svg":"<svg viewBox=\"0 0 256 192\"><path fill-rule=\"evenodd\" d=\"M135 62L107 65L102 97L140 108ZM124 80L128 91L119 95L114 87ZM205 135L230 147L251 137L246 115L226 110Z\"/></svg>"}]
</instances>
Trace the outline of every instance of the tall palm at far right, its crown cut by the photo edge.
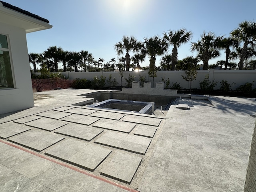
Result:
<instances>
[{"instance_id":1,"label":"tall palm at far right, its crown cut by the photo edge","mask_svg":"<svg viewBox=\"0 0 256 192\"><path fill-rule=\"evenodd\" d=\"M256 23L254 21L243 21L239 24L238 28L230 32L230 35L237 38L239 42L244 42L238 63L239 70L241 70L244 66L248 46L254 45L256 40Z\"/></svg>"}]
</instances>

